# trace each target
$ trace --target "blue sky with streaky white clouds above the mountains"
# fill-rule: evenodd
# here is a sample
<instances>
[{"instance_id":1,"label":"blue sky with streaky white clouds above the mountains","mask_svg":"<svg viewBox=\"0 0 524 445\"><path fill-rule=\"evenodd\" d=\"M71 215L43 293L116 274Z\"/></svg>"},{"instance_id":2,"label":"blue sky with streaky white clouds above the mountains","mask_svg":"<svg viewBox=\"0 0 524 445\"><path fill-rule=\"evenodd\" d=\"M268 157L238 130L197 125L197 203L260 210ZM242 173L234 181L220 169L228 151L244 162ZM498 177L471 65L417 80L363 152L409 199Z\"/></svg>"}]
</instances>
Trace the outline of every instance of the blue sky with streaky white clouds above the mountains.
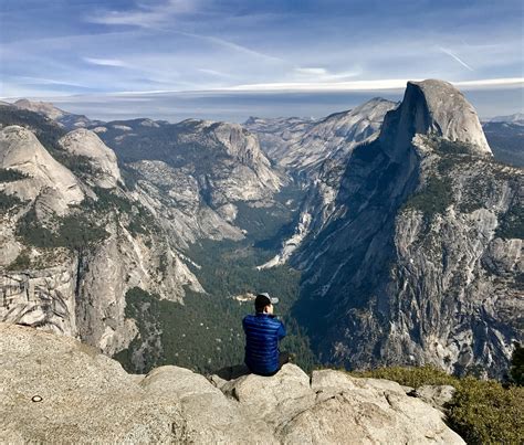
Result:
<instances>
[{"instance_id":1,"label":"blue sky with streaky white clouds above the mountains","mask_svg":"<svg viewBox=\"0 0 524 445\"><path fill-rule=\"evenodd\" d=\"M522 0L0 0L0 97L107 119L323 116L408 80L524 109Z\"/></svg>"}]
</instances>

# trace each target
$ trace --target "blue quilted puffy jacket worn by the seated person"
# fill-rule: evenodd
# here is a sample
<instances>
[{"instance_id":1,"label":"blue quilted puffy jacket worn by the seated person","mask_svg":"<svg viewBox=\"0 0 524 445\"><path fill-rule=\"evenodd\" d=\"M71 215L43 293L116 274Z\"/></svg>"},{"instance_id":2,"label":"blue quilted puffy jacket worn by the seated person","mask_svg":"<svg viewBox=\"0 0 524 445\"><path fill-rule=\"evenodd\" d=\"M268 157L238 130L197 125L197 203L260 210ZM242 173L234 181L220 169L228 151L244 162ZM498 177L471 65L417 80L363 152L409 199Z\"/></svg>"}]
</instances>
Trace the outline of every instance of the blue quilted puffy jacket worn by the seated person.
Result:
<instances>
[{"instance_id":1,"label":"blue quilted puffy jacket worn by the seated person","mask_svg":"<svg viewBox=\"0 0 524 445\"><path fill-rule=\"evenodd\" d=\"M273 374L279 370L279 340L285 327L274 316L258 312L242 320L245 332L245 364L255 374Z\"/></svg>"}]
</instances>

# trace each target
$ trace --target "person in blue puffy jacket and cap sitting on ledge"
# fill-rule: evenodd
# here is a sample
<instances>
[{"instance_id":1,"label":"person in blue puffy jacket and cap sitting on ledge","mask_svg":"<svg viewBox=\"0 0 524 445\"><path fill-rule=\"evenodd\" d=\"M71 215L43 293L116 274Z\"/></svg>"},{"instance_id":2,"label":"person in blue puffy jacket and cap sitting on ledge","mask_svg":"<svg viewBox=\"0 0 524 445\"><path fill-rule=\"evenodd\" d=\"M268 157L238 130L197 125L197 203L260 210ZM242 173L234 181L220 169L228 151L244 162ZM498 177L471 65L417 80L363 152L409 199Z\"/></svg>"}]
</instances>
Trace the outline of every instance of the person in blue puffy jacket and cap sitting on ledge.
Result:
<instances>
[{"instance_id":1,"label":"person in blue puffy jacket and cap sitting on ledge","mask_svg":"<svg viewBox=\"0 0 524 445\"><path fill-rule=\"evenodd\" d=\"M269 294L259 294L254 300L254 315L242 320L245 332L245 359L249 370L259 375L274 375L287 363L290 356L280 352L279 341L286 335L284 324L274 315L273 305L279 298Z\"/></svg>"}]
</instances>

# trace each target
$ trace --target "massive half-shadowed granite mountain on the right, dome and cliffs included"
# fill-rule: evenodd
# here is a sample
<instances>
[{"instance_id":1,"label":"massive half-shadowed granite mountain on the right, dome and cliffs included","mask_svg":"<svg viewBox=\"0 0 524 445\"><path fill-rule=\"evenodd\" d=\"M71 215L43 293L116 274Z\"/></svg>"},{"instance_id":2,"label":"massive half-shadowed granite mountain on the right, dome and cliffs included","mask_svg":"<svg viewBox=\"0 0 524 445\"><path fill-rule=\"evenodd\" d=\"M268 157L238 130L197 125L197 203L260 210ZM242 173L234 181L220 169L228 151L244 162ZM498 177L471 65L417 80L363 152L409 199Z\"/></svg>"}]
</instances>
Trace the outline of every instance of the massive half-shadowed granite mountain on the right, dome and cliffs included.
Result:
<instances>
[{"instance_id":1,"label":"massive half-shadowed granite mountain on the right, dome and cliffs included","mask_svg":"<svg viewBox=\"0 0 524 445\"><path fill-rule=\"evenodd\" d=\"M409 83L379 138L322 171L290 261L323 359L502 375L524 336L524 174L493 161L460 92Z\"/></svg>"}]
</instances>

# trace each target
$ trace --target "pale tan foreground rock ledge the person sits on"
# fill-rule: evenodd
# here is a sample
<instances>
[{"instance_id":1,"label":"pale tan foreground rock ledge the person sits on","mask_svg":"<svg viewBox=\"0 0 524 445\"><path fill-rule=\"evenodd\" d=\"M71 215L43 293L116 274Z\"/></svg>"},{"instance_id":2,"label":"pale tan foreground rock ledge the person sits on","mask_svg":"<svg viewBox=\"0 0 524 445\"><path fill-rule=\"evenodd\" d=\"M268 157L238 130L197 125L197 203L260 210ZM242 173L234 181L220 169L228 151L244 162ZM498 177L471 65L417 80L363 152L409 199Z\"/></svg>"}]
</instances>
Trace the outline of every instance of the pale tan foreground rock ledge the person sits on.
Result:
<instances>
[{"instance_id":1,"label":"pale tan foreground rock ledge the person sits on","mask_svg":"<svg viewBox=\"0 0 524 445\"><path fill-rule=\"evenodd\" d=\"M397 383L340 371L214 386L177 367L127 374L71 338L0 324L0 436L6 442L442 443L463 441Z\"/></svg>"}]
</instances>

